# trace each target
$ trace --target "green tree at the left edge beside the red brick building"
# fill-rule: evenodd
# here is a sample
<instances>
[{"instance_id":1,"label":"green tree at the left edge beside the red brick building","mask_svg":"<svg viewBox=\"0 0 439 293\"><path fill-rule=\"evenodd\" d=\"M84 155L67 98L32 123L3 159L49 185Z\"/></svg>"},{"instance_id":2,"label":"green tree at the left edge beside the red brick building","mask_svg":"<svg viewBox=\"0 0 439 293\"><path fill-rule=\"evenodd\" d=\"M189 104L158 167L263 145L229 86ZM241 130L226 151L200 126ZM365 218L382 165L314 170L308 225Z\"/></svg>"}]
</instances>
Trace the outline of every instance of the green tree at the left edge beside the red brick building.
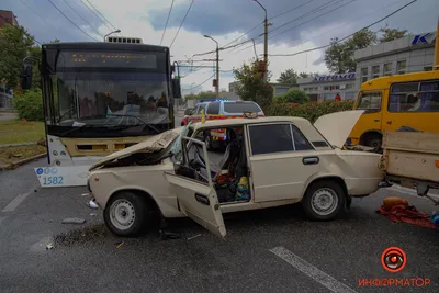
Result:
<instances>
[{"instance_id":1,"label":"green tree at the left edge beside the red brick building","mask_svg":"<svg viewBox=\"0 0 439 293\"><path fill-rule=\"evenodd\" d=\"M0 81L8 88L19 84L22 61L29 56L34 38L23 26L4 25L0 29Z\"/></svg>"}]
</instances>

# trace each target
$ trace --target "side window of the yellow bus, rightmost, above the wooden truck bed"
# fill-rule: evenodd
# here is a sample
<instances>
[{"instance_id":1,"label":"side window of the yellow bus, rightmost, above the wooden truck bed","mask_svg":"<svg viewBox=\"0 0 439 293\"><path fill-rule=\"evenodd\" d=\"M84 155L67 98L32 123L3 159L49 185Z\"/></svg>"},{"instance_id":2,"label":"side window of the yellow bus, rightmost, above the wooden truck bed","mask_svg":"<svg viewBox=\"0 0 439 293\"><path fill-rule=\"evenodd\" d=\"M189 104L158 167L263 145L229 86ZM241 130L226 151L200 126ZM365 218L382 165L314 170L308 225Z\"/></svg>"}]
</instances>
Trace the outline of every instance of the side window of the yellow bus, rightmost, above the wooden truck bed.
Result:
<instances>
[{"instance_id":1,"label":"side window of the yellow bus, rightmost, above the wooden truck bed","mask_svg":"<svg viewBox=\"0 0 439 293\"><path fill-rule=\"evenodd\" d=\"M389 112L439 112L439 80L393 84Z\"/></svg>"}]
</instances>

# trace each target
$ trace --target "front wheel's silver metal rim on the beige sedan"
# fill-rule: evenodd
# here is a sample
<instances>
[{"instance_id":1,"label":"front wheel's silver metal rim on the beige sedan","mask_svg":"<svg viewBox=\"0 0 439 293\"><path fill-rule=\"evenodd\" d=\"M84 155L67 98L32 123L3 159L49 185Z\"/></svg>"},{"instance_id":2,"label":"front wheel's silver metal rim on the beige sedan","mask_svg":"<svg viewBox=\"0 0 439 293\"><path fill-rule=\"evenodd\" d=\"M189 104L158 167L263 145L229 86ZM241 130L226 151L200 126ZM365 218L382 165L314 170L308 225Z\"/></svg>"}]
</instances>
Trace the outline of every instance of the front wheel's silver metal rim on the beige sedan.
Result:
<instances>
[{"instance_id":1,"label":"front wheel's silver metal rim on the beige sedan","mask_svg":"<svg viewBox=\"0 0 439 293\"><path fill-rule=\"evenodd\" d=\"M131 228L136 219L134 205L126 200L116 200L110 207L110 221L121 230Z\"/></svg>"}]
</instances>

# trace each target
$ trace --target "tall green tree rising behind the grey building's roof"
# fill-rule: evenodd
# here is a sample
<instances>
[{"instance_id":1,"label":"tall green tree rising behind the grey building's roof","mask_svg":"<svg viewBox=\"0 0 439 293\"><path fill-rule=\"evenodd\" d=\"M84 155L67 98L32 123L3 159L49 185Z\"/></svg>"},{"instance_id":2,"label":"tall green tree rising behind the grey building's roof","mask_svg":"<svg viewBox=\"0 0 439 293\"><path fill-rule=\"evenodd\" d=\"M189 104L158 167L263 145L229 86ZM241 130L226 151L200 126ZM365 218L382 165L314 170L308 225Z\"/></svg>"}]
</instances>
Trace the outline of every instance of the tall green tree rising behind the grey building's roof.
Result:
<instances>
[{"instance_id":1,"label":"tall green tree rising behind the grey building's roof","mask_svg":"<svg viewBox=\"0 0 439 293\"><path fill-rule=\"evenodd\" d=\"M356 71L353 53L374 44L376 44L376 33L368 29L358 31L345 42L339 42L337 37L331 38L330 46L325 50L326 67L331 74Z\"/></svg>"}]
</instances>

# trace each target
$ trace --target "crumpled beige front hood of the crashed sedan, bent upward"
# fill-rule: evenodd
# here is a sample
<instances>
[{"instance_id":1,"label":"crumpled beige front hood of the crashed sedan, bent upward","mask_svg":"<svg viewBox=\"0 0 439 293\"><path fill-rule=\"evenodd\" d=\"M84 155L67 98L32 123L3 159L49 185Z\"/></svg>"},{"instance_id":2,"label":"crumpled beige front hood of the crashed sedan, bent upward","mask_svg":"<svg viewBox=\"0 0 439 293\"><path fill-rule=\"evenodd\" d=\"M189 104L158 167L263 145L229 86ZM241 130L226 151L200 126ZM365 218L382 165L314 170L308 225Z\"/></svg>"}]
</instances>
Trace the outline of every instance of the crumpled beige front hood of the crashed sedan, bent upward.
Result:
<instances>
[{"instance_id":1,"label":"crumpled beige front hood of the crashed sedan, bent upward","mask_svg":"<svg viewBox=\"0 0 439 293\"><path fill-rule=\"evenodd\" d=\"M155 151L160 151L165 148L167 148L173 139L179 136L180 132L182 131L183 127L178 127L158 135L150 136L146 138L145 140L127 147L125 149L115 151L103 159L99 160L97 164L90 167L89 171L92 171L103 165L105 165L109 161L112 161L114 159L120 159L127 157L134 153L155 153Z\"/></svg>"}]
</instances>

